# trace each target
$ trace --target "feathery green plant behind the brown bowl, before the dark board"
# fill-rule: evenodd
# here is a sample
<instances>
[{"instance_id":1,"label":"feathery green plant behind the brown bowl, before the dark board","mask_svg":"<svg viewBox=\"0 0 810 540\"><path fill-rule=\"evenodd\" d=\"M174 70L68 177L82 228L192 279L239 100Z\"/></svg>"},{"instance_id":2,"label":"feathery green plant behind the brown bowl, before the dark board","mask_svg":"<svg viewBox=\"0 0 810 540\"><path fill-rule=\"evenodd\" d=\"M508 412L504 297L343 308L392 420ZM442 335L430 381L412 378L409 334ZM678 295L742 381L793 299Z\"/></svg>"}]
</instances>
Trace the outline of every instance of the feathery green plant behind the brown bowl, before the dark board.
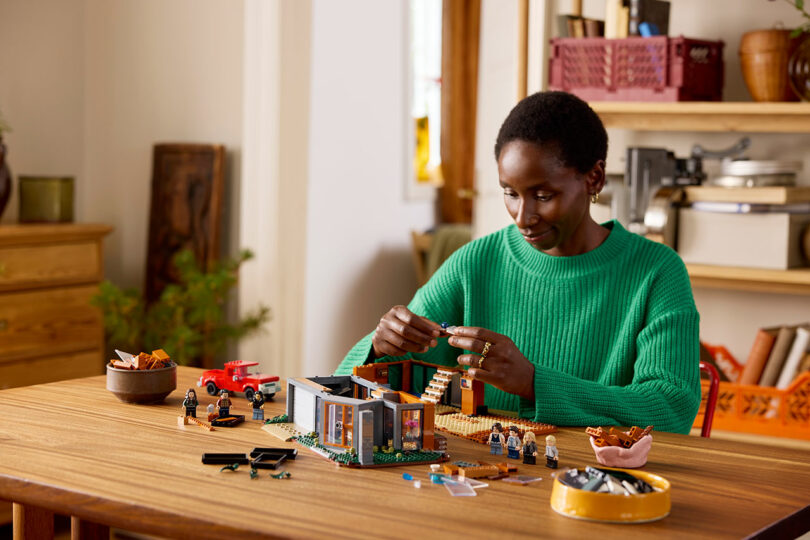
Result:
<instances>
[{"instance_id":1,"label":"feathery green plant behind the brown bowl, before the dark board","mask_svg":"<svg viewBox=\"0 0 810 540\"><path fill-rule=\"evenodd\" d=\"M139 290L104 281L91 303L101 309L108 341L115 348L134 354L164 349L180 365L209 364L228 342L260 330L270 320L270 309L263 305L235 323L225 317L239 267L252 256L242 251L206 272L190 250L180 251L173 258L180 281L167 285L156 302L147 305Z\"/></svg>"}]
</instances>

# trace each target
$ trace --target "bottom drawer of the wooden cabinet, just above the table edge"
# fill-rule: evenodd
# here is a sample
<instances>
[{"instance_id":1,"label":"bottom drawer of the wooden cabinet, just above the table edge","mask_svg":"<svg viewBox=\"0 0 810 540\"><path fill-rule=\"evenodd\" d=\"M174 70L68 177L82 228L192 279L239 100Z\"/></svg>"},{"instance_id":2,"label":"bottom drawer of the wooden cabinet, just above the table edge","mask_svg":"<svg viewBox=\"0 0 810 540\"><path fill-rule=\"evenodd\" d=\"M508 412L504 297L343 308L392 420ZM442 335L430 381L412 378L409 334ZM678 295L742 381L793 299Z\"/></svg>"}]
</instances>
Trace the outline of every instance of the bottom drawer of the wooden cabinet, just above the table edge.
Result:
<instances>
[{"instance_id":1,"label":"bottom drawer of the wooden cabinet, just above the table edge","mask_svg":"<svg viewBox=\"0 0 810 540\"><path fill-rule=\"evenodd\" d=\"M0 390L101 375L104 364L101 349L0 362Z\"/></svg>"}]
</instances>

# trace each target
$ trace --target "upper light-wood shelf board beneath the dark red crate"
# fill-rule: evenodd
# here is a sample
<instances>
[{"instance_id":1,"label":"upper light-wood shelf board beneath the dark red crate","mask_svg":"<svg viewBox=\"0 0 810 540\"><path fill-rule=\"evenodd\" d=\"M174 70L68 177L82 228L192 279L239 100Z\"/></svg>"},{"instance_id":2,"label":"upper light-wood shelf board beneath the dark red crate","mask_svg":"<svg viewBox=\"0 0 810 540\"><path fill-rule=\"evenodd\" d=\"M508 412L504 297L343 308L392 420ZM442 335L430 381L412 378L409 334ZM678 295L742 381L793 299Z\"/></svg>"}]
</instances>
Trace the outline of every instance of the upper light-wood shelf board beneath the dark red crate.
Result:
<instances>
[{"instance_id":1,"label":"upper light-wood shelf board beneath the dark red crate","mask_svg":"<svg viewBox=\"0 0 810 540\"><path fill-rule=\"evenodd\" d=\"M641 131L810 133L810 103L593 102L606 127Z\"/></svg>"}]
</instances>

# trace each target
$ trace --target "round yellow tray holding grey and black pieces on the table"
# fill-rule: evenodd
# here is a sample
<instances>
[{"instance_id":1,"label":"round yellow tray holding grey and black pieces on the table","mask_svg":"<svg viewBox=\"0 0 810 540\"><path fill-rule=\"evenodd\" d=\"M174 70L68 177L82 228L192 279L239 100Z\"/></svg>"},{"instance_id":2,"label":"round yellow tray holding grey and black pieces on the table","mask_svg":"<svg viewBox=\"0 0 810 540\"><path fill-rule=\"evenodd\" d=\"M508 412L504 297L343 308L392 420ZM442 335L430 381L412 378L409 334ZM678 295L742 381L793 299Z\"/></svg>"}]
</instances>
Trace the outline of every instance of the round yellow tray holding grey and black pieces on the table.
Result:
<instances>
[{"instance_id":1,"label":"round yellow tray holding grey and black pieces on the table","mask_svg":"<svg viewBox=\"0 0 810 540\"><path fill-rule=\"evenodd\" d=\"M572 518L615 523L643 523L669 515L670 484L667 479L637 470L601 468L632 474L662 491L638 495L595 493L566 486L555 477L551 489L551 508Z\"/></svg>"}]
</instances>

